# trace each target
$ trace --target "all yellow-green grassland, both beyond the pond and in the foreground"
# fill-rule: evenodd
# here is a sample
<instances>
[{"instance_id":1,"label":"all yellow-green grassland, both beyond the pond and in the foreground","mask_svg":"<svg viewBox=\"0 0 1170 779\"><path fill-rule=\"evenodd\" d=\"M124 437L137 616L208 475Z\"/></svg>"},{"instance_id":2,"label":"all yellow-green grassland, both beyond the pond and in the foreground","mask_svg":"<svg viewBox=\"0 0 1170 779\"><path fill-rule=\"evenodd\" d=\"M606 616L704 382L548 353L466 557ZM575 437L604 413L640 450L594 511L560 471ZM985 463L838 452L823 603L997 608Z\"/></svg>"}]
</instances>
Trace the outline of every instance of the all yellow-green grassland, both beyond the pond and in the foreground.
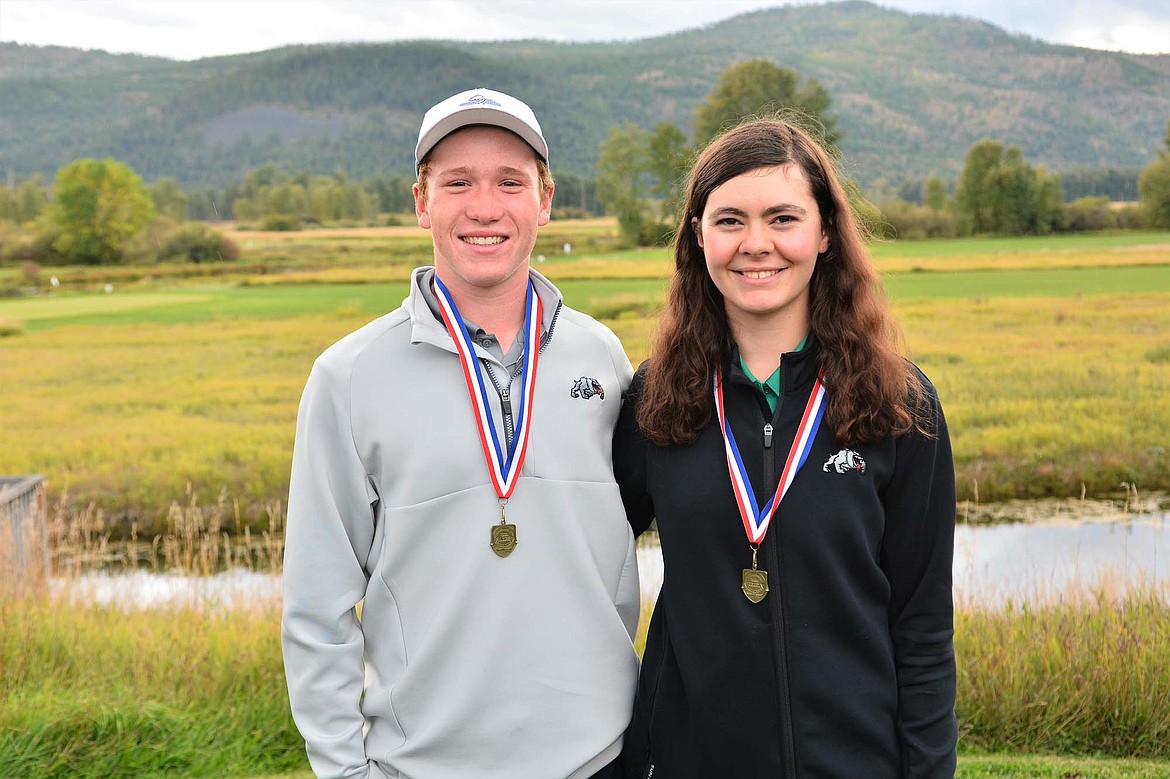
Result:
<instances>
[{"instance_id":1,"label":"all yellow-green grassland, both beyond the pond and in the foreground","mask_svg":"<svg viewBox=\"0 0 1170 779\"><path fill-rule=\"evenodd\" d=\"M539 269L636 364L666 250L558 229ZM195 516L220 495L223 530L269 526L314 358L394 308L426 253L410 227L236 237L230 267L54 269L51 296L0 298L0 473L46 474L87 544L131 523L149 538L174 502ZM940 388L962 498L1170 489L1170 234L874 253ZM0 268L0 287L19 275ZM1170 777L1168 600L959 608L957 777ZM277 621L0 600L0 777L309 779Z\"/></svg>"}]
</instances>

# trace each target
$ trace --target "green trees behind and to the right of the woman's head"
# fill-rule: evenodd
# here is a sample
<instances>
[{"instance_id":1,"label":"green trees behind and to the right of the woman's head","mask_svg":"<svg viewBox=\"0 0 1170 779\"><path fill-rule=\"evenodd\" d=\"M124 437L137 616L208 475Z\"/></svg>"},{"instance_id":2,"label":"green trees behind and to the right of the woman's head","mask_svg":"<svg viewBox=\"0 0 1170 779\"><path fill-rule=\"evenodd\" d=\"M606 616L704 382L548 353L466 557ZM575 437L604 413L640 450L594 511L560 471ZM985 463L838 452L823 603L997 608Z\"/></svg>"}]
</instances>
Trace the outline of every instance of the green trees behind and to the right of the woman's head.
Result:
<instances>
[{"instance_id":1,"label":"green trees behind and to the right of the woman's head","mask_svg":"<svg viewBox=\"0 0 1170 779\"><path fill-rule=\"evenodd\" d=\"M815 81L766 60L727 69L695 110L694 137L660 123L653 132L631 123L615 126L601 144L598 191L618 218L629 243L661 241L676 228L689 160L722 129L756 116L779 113L805 126L835 154L840 133L828 113L828 92ZM870 228L887 237L959 235L1047 235L1055 232L1170 227L1163 181L1166 152L1140 174L1120 172L1074 177L1074 199L1066 202L1061 177L1028 164L1018 146L986 138L968 151L956 182L931 177L913 194L855 193L855 205ZM846 178L847 177L842 177ZM1128 186L1127 186L1128 185ZM1097 188L1100 187L1100 188ZM879 187L880 188L880 187ZM1119 205L1109 188L1140 206Z\"/></svg>"}]
</instances>

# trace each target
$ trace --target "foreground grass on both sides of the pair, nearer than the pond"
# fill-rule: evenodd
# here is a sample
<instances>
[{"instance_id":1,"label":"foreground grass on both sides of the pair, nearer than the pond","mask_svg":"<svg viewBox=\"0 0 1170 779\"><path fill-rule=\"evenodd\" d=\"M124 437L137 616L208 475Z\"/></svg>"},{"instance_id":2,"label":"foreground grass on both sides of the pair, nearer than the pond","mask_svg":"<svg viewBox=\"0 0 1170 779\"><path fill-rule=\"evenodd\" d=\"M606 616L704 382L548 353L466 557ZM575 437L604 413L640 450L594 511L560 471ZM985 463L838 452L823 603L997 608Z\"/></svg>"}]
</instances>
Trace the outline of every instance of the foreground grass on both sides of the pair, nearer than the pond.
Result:
<instances>
[{"instance_id":1,"label":"foreground grass on both sides of the pair, nearer than the pond","mask_svg":"<svg viewBox=\"0 0 1170 779\"><path fill-rule=\"evenodd\" d=\"M961 608L956 775L1170 775L1168 604L1144 592ZM139 612L6 598L0 621L0 777L308 779L271 604Z\"/></svg>"}]
</instances>

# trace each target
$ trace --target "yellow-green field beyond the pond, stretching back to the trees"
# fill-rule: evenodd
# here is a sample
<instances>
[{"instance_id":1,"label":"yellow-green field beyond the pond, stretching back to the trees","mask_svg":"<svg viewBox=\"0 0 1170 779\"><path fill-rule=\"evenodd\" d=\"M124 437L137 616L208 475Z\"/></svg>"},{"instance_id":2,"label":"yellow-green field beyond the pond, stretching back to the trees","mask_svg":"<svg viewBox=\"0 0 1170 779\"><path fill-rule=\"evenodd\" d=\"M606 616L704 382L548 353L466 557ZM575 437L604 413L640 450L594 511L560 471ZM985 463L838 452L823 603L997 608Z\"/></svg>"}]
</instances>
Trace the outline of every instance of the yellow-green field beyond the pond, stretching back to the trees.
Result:
<instances>
[{"instance_id":1,"label":"yellow-green field beyond the pond, stretching back to the trees","mask_svg":"<svg viewBox=\"0 0 1170 779\"><path fill-rule=\"evenodd\" d=\"M578 244L603 243L573 225ZM566 228L567 229L567 228ZM600 230L601 227L593 226ZM0 473L42 473L54 499L157 529L188 483L246 521L288 485L314 358L398 305L410 266L344 264L335 244L415 251L417 228L247 234L289 273L150 278L0 298ZM388 249L394 241L407 249ZM319 267L309 261L318 253ZM259 250L259 249L257 249ZM379 249L383 250L383 249ZM1170 488L1170 234L881 243L909 354L940 387L963 499ZM326 253L322 255L322 253ZM350 250L352 256L356 250ZM254 263L245 256L241 263ZM663 249L539 263L570 305L648 352ZM62 269L68 277L70 269ZM102 273L104 269L80 269ZM391 280L324 283L352 276Z\"/></svg>"}]
</instances>

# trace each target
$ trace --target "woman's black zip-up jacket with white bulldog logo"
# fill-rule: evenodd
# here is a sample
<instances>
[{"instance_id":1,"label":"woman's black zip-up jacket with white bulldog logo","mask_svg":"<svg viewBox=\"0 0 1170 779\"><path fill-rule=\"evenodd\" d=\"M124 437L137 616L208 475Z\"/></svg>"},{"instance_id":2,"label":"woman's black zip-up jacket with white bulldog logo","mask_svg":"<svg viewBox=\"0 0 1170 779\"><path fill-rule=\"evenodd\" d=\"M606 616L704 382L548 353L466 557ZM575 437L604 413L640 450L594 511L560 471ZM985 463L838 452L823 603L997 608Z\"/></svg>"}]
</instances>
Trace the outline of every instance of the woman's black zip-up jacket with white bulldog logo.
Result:
<instances>
[{"instance_id":1,"label":"woman's black zip-up jacket with white bulldog logo","mask_svg":"<svg viewBox=\"0 0 1170 779\"><path fill-rule=\"evenodd\" d=\"M817 368L815 344L784 354L775 414L737 356L724 368L759 505L776 492ZM842 446L820 426L759 546L769 593L752 604L717 422L689 446L649 443L634 421L645 372L618 422L614 471L634 532L658 519L665 570L627 775L954 777L955 471L934 387L923 377L934 436Z\"/></svg>"}]
</instances>

